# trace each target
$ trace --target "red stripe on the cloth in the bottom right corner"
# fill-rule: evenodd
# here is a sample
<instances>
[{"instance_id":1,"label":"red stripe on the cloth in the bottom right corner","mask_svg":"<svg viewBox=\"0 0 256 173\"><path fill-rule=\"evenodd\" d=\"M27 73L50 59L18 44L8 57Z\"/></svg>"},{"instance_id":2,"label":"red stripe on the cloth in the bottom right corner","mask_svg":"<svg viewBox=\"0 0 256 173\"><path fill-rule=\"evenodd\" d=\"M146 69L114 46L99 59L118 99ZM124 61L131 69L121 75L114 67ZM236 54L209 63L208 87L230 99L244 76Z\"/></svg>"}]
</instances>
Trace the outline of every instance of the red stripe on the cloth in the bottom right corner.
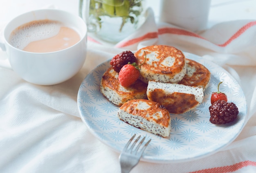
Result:
<instances>
[{"instance_id":1,"label":"red stripe on the cloth in the bottom right corner","mask_svg":"<svg viewBox=\"0 0 256 173\"><path fill-rule=\"evenodd\" d=\"M229 173L229 172L237 171L238 169L242 169L243 167L246 167L246 166L256 166L256 162L246 160L244 162L239 162L230 166L203 169L203 170L194 171L190 173Z\"/></svg>"}]
</instances>

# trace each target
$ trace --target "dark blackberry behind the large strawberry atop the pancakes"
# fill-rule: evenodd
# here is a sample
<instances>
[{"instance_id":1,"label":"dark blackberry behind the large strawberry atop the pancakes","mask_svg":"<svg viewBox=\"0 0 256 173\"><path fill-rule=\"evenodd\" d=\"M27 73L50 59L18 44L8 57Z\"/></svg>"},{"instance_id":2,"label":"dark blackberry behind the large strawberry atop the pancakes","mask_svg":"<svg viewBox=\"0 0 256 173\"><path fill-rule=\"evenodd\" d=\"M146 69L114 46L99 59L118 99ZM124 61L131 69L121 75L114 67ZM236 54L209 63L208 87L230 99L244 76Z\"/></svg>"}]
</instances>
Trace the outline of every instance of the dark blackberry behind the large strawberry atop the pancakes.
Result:
<instances>
[{"instance_id":1,"label":"dark blackberry behind the large strawberry atop the pancakes","mask_svg":"<svg viewBox=\"0 0 256 173\"><path fill-rule=\"evenodd\" d=\"M115 55L111 61L110 65L114 68L116 72L120 72L121 68L128 64L130 62L131 64L134 63L136 60L136 57L130 50L126 50L124 52L121 52L117 55Z\"/></svg>"}]
</instances>

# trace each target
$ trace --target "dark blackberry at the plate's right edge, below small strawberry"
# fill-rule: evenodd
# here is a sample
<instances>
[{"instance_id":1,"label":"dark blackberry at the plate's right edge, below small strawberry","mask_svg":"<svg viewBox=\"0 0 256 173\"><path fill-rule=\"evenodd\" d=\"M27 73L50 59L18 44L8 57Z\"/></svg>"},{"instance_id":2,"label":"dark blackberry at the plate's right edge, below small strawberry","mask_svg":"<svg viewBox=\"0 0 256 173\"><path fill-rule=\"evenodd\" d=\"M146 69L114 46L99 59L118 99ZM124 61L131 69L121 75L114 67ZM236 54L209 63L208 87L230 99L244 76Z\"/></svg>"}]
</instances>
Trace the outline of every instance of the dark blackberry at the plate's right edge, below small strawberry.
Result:
<instances>
[{"instance_id":1,"label":"dark blackberry at the plate's right edge, below small strawberry","mask_svg":"<svg viewBox=\"0 0 256 173\"><path fill-rule=\"evenodd\" d=\"M210 122L213 124L226 124L234 121L238 115L238 108L234 103L224 100L214 102L210 107Z\"/></svg>"}]
</instances>

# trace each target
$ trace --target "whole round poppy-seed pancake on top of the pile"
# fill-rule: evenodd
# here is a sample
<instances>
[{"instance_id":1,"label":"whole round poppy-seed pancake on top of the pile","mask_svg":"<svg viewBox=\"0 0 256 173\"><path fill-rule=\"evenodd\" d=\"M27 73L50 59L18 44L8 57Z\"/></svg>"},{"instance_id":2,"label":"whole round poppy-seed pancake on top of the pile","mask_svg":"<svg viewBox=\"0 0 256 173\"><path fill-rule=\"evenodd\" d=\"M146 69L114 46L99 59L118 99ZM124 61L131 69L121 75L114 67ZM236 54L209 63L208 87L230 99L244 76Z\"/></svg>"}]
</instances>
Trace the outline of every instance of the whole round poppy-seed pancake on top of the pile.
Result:
<instances>
[{"instance_id":1,"label":"whole round poppy-seed pancake on top of the pile","mask_svg":"<svg viewBox=\"0 0 256 173\"><path fill-rule=\"evenodd\" d=\"M186 74L185 56L181 50L172 46L155 45L139 49L135 53L139 67L140 79L145 83L148 81L159 81L164 83L178 83Z\"/></svg>"}]
</instances>

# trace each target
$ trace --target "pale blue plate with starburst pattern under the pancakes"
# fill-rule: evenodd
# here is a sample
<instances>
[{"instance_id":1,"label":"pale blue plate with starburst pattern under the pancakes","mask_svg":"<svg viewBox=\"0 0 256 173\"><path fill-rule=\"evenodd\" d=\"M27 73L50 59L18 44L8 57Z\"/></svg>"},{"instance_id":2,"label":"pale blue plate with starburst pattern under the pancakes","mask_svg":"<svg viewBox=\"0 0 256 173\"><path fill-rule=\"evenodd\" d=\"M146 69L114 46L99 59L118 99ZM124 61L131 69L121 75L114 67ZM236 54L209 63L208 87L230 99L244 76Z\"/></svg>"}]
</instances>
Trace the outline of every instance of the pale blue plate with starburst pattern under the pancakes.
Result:
<instances>
[{"instance_id":1,"label":"pale blue plate with starburst pattern under the pancakes","mask_svg":"<svg viewBox=\"0 0 256 173\"><path fill-rule=\"evenodd\" d=\"M216 64L201 57L184 53L186 58L203 64L211 72L209 87L204 92L203 102L194 110L184 114L171 114L171 135L162 138L137 129L117 118L118 107L108 101L100 92L99 84L103 73L110 67L109 62L92 70L81 83L78 92L78 108L83 122L92 134L117 152L121 152L133 134L152 139L141 160L156 163L185 162L216 153L236 139L242 131L247 116L245 95L231 75ZM236 104L238 118L228 125L213 125L209 122L211 93L225 92L229 102Z\"/></svg>"}]
</instances>

